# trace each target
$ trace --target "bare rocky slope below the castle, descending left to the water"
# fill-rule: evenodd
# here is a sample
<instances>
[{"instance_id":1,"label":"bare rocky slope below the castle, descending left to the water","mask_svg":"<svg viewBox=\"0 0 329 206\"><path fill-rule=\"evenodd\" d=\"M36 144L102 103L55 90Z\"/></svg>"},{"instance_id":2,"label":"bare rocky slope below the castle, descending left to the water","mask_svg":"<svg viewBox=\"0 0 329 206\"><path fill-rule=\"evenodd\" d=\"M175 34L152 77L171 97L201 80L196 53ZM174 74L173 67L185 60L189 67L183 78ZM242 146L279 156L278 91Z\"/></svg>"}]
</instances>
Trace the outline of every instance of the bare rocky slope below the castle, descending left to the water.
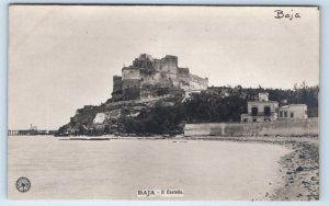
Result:
<instances>
[{"instance_id":1,"label":"bare rocky slope below the castle, descending left to the water","mask_svg":"<svg viewBox=\"0 0 329 206\"><path fill-rule=\"evenodd\" d=\"M170 92L173 93L173 92ZM137 118L141 113L147 114L154 107L170 107L180 103L183 92L175 95L164 94L145 100L127 100L104 103L99 106L84 106L77 110L70 122L58 129L59 136L106 134L125 134L128 119Z\"/></svg>"}]
</instances>

